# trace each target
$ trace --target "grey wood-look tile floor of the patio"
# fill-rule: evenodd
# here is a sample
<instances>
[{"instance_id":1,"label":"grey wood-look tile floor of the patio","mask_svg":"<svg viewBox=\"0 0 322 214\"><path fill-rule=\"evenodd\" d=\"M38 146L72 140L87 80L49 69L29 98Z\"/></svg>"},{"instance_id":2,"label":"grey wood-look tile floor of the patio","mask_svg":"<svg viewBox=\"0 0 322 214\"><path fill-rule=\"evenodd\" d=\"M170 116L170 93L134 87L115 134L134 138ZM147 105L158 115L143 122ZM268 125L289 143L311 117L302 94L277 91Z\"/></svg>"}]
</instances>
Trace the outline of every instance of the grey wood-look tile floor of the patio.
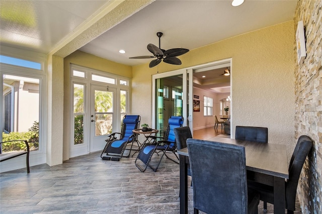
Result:
<instances>
[{"instance_id":1,"label":"grey wood-look tile floor of the patio","mask_svg":"<svg viewBox=\"0 0 322 214\"><path fill-rule=\"evenodd\" d=\"M208 138L207 133L200 136ZM179 164L164 157L156 172L140 172L134 161L135 155L102 160L97 152L52 167L32 166L29 174L25 168L1 173L0 213L179 213ZM268 204L267 213L273 213L273 205Z\"/></svg>"}]
</instances>

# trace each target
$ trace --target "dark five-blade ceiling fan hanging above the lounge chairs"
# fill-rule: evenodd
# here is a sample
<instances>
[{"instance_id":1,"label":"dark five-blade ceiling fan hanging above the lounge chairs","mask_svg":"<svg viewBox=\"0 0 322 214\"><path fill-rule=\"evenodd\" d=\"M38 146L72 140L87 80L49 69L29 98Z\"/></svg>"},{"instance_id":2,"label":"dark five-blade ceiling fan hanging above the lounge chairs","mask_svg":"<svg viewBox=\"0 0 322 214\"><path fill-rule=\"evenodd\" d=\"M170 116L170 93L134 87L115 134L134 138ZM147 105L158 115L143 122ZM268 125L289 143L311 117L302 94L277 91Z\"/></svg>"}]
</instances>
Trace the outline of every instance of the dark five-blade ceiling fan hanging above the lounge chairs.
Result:
<instances>
[{"instance_id":1,"label":"dark five-blade ceiling fan hanging above the lounge chairs","mask_svg":"<svg viewBox=\"0 0 322 214\"><path fill-rule=\"evenodd\" d=\"M148 44L147 49L153 54L153 56L135 56L130 57L130 59L149 59L156 58L152 60L149 64L149 67L154 67L158 65L162 60L166 63L173 65L181 65L181 60L177 56L187 53L189 50L185 48L173 48L169 50L164 50L160 48L160 38L162 37L162 32L157 32L156 36L159 38L159 47L156 47L153 44Z\"/></svg>"}]
</instances>

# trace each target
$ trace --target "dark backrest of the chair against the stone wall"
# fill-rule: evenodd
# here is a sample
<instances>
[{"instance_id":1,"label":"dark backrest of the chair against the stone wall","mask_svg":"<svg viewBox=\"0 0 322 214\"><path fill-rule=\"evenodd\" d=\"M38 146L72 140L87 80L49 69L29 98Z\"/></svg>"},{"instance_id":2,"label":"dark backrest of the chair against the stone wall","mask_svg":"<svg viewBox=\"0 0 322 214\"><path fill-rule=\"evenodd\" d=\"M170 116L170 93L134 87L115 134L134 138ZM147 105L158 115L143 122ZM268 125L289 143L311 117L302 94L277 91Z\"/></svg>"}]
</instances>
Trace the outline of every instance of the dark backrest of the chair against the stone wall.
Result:
<instances>
[{"instance_id":1,"label":"dark backrest of the chair against the stone wall","mask_svg":"<svg viewBox=\"0 0 322 214\"><path fill-rule=\"evenodd\" d=\"M295 146L288 168L289 179L286 182L285 196L287 209L295 210L295 197L298 179L301 174L306 156L311 150L312 145L312 140L309 137L302 135L299 137Z\"/></svg>"}]
</instances>

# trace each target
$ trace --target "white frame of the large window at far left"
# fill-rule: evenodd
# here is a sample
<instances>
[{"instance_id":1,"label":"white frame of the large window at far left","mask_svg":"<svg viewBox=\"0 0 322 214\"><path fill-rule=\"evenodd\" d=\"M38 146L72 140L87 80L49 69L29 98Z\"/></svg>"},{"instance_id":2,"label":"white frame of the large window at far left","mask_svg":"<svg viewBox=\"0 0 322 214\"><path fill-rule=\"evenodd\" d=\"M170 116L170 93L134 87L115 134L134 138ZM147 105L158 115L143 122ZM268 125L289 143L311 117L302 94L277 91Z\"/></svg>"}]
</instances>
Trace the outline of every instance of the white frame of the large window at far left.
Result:
<instances>
[{"instance_id":1,"label":"white frame of the large window at far left","mask_svg":"<svg viewBox=\"0 0 322 214\"><path fill-rule=\"evenodd\" d=\"M0 81L3 82L3 75L17 75L29 78L39 79L39 150L30 152L29 163L30 166L46 163L46 142L47 142L47 70L46 70L46 55L31 51L26 51L17 48L10 48L1 46L1 55L10 56L13 58L24 59L41 63L41 70L27 68L17 65L1 63L0 67ZM0 91L3 91L3 84L0 84ZM3 96L3 95L2 95ZM3 97L0 98L0 112L3 112ZM3 114L0 114L0 130L3 130ZM2 134L0 135L2 141ZM1 163L0 172L10 171L26 167L26 157L21 156Z\"/></svg>"}]
</instances>

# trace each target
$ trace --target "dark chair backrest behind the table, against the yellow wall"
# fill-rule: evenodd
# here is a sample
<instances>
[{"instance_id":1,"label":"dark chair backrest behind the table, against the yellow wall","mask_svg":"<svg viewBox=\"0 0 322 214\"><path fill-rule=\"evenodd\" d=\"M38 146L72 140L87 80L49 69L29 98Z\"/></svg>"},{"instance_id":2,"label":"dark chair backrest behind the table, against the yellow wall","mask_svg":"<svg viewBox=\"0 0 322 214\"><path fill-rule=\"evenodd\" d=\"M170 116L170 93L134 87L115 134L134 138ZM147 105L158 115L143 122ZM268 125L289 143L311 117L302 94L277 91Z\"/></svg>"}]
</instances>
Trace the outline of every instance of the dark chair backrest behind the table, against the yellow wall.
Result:
<instances>
[{"instance_id":1,"label":"dark chair backrest behind the table, against the yellow wall","mask_svg":"<svg viewBox=\"0 0 322 214\"><path fill-rule=\"evenodd\" d=\"M235 139L267 143L268 129L266 127L236 126Z\"/></svg>"}]
</instances>

